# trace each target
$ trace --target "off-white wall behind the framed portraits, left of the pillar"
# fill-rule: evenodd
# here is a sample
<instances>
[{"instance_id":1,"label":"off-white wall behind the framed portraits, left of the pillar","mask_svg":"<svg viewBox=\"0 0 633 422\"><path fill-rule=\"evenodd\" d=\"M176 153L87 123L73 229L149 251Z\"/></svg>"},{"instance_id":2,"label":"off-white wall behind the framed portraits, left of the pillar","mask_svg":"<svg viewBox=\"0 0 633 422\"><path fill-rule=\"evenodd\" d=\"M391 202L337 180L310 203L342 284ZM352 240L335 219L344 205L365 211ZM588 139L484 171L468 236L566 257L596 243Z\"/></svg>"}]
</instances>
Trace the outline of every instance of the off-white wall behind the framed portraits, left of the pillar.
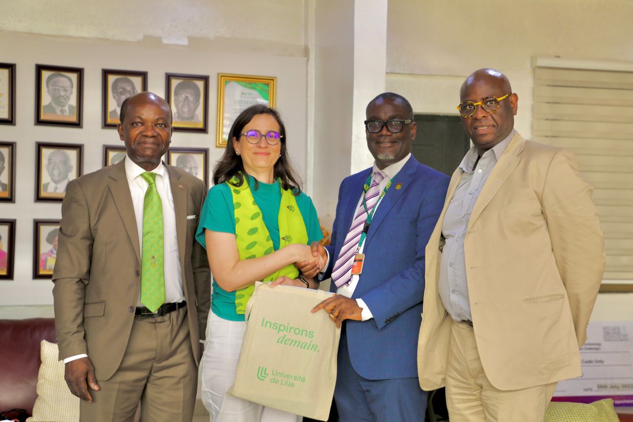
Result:
<instances>
[{"instance_id":1,"label":"off-white wall behind the framed portraits, left of the pillar","mask_svg":"<svg viewBox=\"0 0 633 422\"><path fill-rule=\"evenodd\" d=\"M103 8L96 1L58 1L53 8L52 3L42 7L39 1L0 0L0 59L16 63L17 75L17 123L0 125L0 140L17 142L18 163L16 202L0 204L0 218L17 220L15 276L13 281L0 281L0 305L53 302L53 283L32 279L32 226L34 219L61 218L61 203L34 202L35 142L84 144L84 174L101 168L104 144L122 144L116 130L101 128L102 68L148 71L148 90L160 96L165 95L165 72L210 75L209 133L175 132L172 145L208 147L211 167L223 152L215 147L217 74L277 77L277 108L289 134L291 158L306 178L303 1L270 1L266 6L260 1L198 1L178 8L173 2L159 1L151 11L146 6L141 10L145 3L125 2L128 10L138 9L126 14L116 4ZM144 34L156 36L143 38ZM174 34L187 37L187 44L163 43L161 37ZM35 63L84 68L83 128L34 125ZM20 307L21 314L39 312Z\"/></svg>"}]
</instances>

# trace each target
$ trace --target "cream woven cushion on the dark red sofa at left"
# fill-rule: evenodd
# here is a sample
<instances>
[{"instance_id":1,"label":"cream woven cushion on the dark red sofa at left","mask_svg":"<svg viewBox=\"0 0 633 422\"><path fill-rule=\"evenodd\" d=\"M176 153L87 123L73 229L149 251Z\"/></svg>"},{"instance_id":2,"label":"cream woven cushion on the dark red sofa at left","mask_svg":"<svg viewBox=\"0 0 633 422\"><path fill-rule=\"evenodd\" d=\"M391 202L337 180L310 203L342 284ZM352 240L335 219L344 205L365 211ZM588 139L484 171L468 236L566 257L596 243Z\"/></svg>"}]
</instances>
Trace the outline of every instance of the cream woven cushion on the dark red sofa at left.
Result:
<instances>
[{"instance_id":1,"label":"cream woven cushion on the dark red sofa at left","mask_svg":"<svg viewBox=\"0 0 633 422\"><path fill-rule=\"evenodd\" d=\"M79 397L73 395L64 380L64 364L56 344L42 340L42 364L37 374L37 399L28 422L79 420Z\"/></svg>"}]
</instances>

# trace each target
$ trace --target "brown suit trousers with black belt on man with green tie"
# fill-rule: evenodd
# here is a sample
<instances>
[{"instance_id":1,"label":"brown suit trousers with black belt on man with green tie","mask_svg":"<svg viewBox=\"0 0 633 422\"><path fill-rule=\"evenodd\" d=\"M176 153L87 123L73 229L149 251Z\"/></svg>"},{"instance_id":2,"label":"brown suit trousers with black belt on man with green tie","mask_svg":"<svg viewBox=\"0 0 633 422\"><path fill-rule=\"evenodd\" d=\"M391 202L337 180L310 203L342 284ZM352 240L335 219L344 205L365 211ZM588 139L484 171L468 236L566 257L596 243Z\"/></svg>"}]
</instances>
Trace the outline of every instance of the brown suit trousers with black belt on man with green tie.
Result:
<instances>
[{"instance_id":1,"label":"brown suit trousers with black belt on man with green tie","mask_svg":"<svg viewBox=\"0 0 633 422\"><path fill-rule=\"evenodd\" d=\"M97 383L100 390L91 390L92 402L81 400L82 422L131 422L139 401L142 421L191 422L197 366L187 308L158 318L135 317L119 368Z\"/></svg>"}]
</instances>

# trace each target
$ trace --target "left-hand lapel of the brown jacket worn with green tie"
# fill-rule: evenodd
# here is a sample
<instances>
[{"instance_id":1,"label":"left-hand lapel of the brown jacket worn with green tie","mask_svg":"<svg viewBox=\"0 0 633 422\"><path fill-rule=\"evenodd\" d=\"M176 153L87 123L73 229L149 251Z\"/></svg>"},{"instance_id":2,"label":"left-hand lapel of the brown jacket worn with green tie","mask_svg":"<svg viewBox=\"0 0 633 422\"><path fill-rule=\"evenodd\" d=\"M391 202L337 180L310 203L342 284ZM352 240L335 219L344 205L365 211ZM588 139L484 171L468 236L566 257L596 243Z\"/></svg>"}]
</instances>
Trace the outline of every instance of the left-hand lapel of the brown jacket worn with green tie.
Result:
<instances>
[{"instance_id":1,"label":"left-hand lapel of the brown jacket worn with green tie","mask_svg":"<svg viewBox=\"0 0 633 422\"><path fill-rule=\"evenodd\" d=\"M127 231L127 235L132 242L136 259L141 262L141 247L139 246L139 232L136 227L136 217L134 214L134 206L132 205L132 194L130 194L130 185L125 176L125 159L115 164L110 171L110 181L108 189L112 197L115 199L115 206L123 221L123 226Z\"/></svg>"}]
</instances>

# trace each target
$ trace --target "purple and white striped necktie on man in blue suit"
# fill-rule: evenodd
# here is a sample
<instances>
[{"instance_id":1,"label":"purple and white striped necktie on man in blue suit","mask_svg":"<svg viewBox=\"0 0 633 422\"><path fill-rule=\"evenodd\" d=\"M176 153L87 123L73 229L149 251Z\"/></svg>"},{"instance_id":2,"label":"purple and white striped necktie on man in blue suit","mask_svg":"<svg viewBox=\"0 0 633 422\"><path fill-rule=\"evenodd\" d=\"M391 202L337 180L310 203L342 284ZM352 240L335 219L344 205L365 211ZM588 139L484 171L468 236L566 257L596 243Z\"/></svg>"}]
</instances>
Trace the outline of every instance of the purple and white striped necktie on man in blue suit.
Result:
<instances>
[{"instance_id":1,"label":"purple and white striped necktie on man in blue suit","mask_svg":"<svg viewBox=\"0 0 633 422\"><path fill-rule=\"evenodd\" d=\"M385 173L382 171L376 171L373 173L372 183L369 186L367 194L365 194L365 205L367 210L372 211L376 202L380 199L380 182L384 180ZM351 226L349 227L348 234L345 237L345 242L339 252L339 258L334 262L334 269L332 270L332 282L336 287L349 283L352 279L352 266L354 264L354 256L356 256L356 249L358 248L358 242L360 241L360 235L363 232L363 226L367 221L367 211L363 206L363 201L360 201L358 208Z\"/></svg>"}]
</instances>

